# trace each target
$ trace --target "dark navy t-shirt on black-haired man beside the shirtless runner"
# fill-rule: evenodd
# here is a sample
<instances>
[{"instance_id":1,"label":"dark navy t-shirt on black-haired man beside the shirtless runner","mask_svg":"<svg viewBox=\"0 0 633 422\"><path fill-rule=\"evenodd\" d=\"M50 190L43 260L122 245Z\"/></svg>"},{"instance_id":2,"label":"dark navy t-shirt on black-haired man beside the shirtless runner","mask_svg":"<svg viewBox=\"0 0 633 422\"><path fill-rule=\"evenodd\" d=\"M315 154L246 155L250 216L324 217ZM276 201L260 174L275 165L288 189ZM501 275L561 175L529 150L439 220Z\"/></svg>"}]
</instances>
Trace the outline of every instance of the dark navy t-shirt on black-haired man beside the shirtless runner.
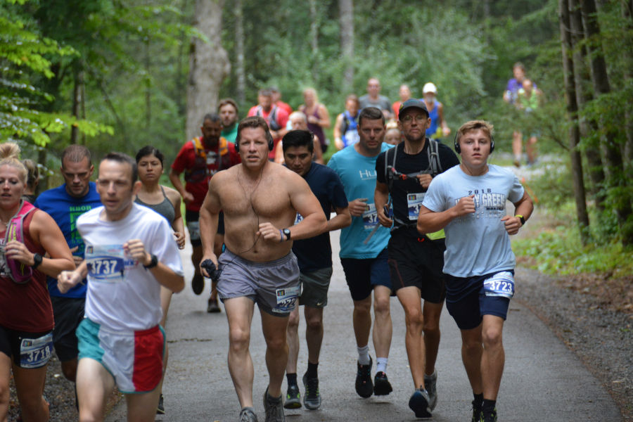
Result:
<instances>
[{"instance_id":1,"label":"dark navy t-shirt on black-haired man beside the shirtless runner","mask_svg":"<svg viewBox=\"0 0 633 422\"><path fill-rule=\"evenodd\" d=\"M310 170L303 177L308 186L321 203L326 218L330 219L333 207L347 207L345 189L338 174L332 169L313 162ZM297 214L295 224L303 219ZM326 231L313 238L293 241L293 252L297 255L299 270L303 273L316 271L317 269L332 267L332 246L330 245L330 232Z\"/></svg>"}]
</instances>

